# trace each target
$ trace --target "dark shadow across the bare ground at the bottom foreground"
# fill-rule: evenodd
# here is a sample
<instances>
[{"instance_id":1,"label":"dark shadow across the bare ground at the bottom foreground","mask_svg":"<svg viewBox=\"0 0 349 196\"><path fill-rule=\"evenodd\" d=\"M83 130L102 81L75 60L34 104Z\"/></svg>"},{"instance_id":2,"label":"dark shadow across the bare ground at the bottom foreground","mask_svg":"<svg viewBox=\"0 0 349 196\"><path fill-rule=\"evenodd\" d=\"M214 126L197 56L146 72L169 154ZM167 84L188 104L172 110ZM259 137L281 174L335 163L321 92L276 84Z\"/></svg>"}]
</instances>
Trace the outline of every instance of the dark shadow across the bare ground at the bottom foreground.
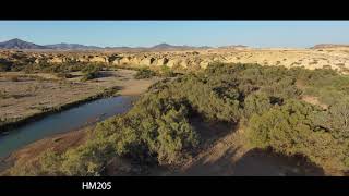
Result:
<instances>
[{"instance_id":1,"label":"dark shadow across the bare ground at the bottom foreground","mask_svg":"<svg viewBox=\"0 0 349 196\"><path fill-rule=\"evenodd\" d=\"M322 176L324 170L300 157L287 157L270 150L251 149L241 157L239 148L228 148L215 160L203 157L183 171L183 175L233 176Z\"/></svg>"}]
</instances>

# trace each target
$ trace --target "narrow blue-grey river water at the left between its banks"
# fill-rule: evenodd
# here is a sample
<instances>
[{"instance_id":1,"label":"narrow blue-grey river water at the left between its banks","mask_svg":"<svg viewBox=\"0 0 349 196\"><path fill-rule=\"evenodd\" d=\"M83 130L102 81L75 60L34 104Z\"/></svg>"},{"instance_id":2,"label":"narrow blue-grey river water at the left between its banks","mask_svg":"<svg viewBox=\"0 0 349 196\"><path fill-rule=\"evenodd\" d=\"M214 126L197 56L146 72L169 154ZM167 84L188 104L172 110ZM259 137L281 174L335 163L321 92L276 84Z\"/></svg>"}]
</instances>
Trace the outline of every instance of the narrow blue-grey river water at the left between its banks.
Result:
<instances>
[{"instance_id":1,"label":"narrow blue-grey river water at the left between its banks","mask_svg":"<svg viewBox=\"0 0 349 196\"><path fill-rule=\"evenodd\" d=\"M134 99L135 97L132 96L98 99L11 130L7 135L0 135L0 158L44 137L73 131L88 123L124 113L132 107Z\"/></svg>"}]
</instances>

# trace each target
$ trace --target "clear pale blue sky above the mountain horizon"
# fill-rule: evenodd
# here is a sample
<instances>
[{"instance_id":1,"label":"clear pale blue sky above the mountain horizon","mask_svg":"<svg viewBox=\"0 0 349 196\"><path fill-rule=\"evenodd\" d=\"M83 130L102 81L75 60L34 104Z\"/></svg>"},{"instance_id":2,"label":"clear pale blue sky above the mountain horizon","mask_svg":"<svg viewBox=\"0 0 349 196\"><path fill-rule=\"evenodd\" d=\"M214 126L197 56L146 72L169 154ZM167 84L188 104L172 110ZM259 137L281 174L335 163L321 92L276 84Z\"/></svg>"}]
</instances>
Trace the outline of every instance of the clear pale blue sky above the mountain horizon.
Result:
<instances>
[{"instance_id":1,"label":"clear pale blue sky above the mountain horizon","mask_svg":"<svg viewBox=\"0 0 349 196\"><path fill-rule=\"evenodd\" d=\"M349 21L0 21L0 41L99 47L349 44Z\"/></svg>"}]
</instances>

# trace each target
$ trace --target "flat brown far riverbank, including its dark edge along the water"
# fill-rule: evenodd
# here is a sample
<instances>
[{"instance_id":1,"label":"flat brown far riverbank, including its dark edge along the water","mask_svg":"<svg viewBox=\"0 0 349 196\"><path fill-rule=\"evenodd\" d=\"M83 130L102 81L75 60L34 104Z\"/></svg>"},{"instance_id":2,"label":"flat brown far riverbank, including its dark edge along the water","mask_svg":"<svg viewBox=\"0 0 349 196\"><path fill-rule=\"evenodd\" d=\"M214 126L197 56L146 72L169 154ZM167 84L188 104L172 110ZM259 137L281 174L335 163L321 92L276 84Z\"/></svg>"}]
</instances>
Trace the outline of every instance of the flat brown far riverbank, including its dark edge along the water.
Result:
<instances>
[{"instance_id":1,"label":"flat brown far riverbank, including its dark edge along the water","mask_svg":"<svg viewBox=\"0 0 349 196\"><path fill-rule=\"evenodd\" d=\"M45 75L46 79L43 79L39 74L11 82L5 78L14 73L2 74L0 89L7 96L0 102L0 133L103 97L116 94L139 95L158 81L135 79L135 73L132 70L104 71L103 77L89 82L79 82L79 76L55 81Z\"/></svg>"}]
</instances>

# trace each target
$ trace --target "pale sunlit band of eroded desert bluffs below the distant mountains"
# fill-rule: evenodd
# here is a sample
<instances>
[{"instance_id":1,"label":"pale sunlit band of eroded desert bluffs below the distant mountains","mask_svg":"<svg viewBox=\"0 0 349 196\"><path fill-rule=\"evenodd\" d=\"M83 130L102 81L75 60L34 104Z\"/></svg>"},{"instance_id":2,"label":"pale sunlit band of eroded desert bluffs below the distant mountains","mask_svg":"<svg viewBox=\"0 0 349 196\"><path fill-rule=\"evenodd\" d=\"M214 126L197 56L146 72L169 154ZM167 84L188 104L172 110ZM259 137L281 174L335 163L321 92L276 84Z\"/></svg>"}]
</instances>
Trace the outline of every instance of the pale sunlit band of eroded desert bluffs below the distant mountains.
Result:
<instances>
[{"instance_id":1,"label":"pale sunlit band of eroded desert bluffs below the distant mountains","mask_svg":"<svg viewBox=\"0 0 349 196\"><path fill-rule=\"evenodd\" d=\"M15 51L3 51L0 59L13 59ZM205 69L212 62L258 63L305 69L329 68L342 73L349 68L349 47L297 48L210 48L180 51L26 51L23 58L38 63L97 62L110 65L146 65L181 69Z\"/></svg>"}]
</instances>

